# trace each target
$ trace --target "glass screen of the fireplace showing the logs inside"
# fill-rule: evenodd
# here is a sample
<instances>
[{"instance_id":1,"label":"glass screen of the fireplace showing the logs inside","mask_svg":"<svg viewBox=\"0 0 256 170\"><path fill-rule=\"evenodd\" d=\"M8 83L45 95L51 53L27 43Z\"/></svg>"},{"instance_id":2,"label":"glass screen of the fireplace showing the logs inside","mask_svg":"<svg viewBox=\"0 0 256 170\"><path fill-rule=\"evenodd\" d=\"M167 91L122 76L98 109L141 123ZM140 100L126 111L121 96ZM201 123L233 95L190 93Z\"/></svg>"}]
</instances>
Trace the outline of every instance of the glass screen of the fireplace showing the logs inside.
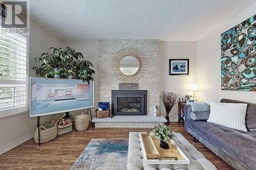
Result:
<instances>
[{"instance_id":1,"label":"glass screen of the fireplace showing the logs inside","mask_svg":"<svg viewBox=\"0 0 256 170\"><path fill-rule=\"evenodd\" d=\"M117 98L118 112L141 112L141 98Z\"/></svg>"}]
</instances>

